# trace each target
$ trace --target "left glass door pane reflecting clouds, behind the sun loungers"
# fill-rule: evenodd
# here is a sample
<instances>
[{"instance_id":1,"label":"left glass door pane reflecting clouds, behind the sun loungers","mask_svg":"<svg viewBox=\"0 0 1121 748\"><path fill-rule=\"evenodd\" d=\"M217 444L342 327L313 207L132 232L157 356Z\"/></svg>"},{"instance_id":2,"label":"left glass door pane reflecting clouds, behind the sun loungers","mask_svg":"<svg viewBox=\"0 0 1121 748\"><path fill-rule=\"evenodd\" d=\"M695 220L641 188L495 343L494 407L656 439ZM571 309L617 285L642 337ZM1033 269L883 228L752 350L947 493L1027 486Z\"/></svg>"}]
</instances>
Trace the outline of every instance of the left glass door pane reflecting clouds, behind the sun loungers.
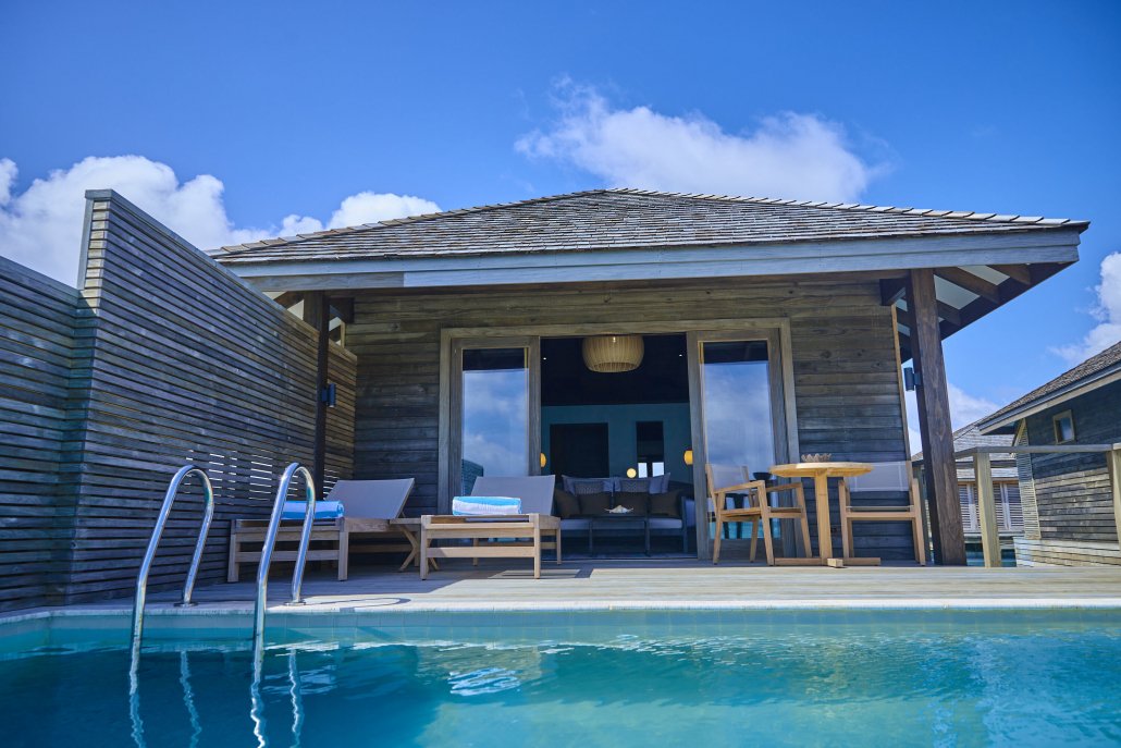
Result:
<instances>
[{"instance_id":1,"label":"left glass door pane reflecting clouds, behind the sun loungers","mask_svg":"<svg viewBox=\"0 0 1121 748\"><path fill-rule=\"evenodd\" d=\"M471 493L480 475L529 473L528 362L528 348L463 349L456 493Z\"/></svg>"}]
</instances>

